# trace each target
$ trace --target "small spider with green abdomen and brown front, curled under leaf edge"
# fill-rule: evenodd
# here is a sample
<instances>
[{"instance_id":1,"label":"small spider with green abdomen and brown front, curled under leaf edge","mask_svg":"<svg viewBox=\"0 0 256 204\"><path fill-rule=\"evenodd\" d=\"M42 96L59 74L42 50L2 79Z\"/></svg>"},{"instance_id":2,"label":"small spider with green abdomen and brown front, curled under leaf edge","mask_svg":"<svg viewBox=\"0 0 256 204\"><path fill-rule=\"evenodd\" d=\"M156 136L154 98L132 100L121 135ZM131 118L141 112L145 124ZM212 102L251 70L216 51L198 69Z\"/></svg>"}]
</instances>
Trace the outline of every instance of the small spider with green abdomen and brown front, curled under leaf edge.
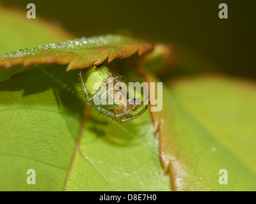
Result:
<instances>
[{"instance_id":1,"label":"small spider with green abdomen and brown front, curled under leaf edge","mask_svg":"<svg viewBox=\"0 0 256 204\"><path fill-rule=\"evenodd\" d=\"M79 70L79 81L88 103L100 113L118 122L126 122L140 116L148 108L140 98L134 98L127 89L125 76L112 77L108 67L92 66Z\"/></svg>"}]
</instances>

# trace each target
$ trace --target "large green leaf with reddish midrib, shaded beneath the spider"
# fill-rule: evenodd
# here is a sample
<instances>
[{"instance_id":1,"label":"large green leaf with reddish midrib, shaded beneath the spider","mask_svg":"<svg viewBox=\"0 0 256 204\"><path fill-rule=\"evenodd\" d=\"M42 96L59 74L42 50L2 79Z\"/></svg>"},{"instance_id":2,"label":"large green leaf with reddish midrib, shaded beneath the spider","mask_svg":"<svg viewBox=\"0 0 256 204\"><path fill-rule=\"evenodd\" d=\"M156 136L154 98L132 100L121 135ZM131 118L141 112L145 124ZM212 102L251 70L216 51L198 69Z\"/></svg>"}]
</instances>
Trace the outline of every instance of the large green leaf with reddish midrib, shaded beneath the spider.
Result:
<instances>
[{"instance_id":1,"label":"large green leaf with reddish midrib, shaded beneath the spider","mask_svg":"<svg viewBox=\"0 0 256 204\"><path fill-rule=\"evenodd\" d=\"M79 90L76 71L47 70ZM149 112L110 123L37 69L1 82L0 96L0 190L170 190Z\"/></svg>"}]
</instances>

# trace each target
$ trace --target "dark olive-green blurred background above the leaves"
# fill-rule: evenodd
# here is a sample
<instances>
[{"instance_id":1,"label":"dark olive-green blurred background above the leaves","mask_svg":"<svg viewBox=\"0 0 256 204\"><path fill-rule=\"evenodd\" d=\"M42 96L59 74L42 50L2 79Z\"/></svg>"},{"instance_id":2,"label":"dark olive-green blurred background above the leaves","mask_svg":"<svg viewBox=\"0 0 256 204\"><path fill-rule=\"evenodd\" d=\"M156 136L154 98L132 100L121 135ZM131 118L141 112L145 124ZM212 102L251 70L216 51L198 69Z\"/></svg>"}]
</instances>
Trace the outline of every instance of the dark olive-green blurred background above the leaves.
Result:
<instances>
[{"instance_id":1,"label":"dark olive-green blurred background above the leaves","mask_svg":"<svg viewBox=\"0 0 256 204\"><path fill-rule=\"evenodd\" d=\"M79 36L127 29L179 42L222 71L256 78L255 0L1 2L23 10L35 3L37 15L58 21ZM218 18L220 3L228 4L228 19Z\"/></svg>"}]
</instances>

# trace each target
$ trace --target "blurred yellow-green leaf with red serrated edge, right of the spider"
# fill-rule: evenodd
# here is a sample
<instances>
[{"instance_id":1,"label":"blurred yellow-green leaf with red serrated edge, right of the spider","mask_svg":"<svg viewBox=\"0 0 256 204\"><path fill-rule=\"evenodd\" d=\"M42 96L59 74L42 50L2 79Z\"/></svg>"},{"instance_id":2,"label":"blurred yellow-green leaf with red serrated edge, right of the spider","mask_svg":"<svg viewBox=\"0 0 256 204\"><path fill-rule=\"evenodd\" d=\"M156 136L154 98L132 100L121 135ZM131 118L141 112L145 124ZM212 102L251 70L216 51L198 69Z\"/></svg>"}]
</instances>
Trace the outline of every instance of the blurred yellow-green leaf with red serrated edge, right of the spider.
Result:
<instances>
[{"instance_id":1,"label":"blurred yellow-green leaf with red serrated edge, right of the spider","mask_svg":"<svg viewBox=\"0 0 256 204\"><path fill-rule=\"evenodd\" d=\"M171 84L163 111L152 114L173 190L255 191L256 85L224 77ZM219 183L221 169L227 185Z\"/></svg>"}]
</instances>

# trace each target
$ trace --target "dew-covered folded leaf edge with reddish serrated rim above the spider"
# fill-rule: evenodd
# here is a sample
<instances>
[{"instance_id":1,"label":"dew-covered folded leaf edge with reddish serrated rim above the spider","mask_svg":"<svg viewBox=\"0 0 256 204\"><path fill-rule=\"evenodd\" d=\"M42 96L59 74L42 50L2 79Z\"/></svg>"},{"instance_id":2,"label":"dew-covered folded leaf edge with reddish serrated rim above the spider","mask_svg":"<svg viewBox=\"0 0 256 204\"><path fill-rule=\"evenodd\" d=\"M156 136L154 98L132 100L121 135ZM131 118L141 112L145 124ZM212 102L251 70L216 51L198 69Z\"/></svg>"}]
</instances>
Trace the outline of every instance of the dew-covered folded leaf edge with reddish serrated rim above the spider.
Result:
<instances>
[{"instance_id":1,"label":"dew-covered folded leaf edge with reddish serrated rim above the spider","mask_svg":"<svg viewBox=\"0 0 256 204\"><path fill-rule=\"evenodd\" d=\"M67 71L70 71L92 65L96 66L106 59L111 62L115 58L130 57L136 52L142 55L152 48L152 44L142 40L108 34L11 52L0 57L0 66L10 68L10 66L18 64L28 66L55 62L68 64Z\"/></svg>"}]
</instances>

